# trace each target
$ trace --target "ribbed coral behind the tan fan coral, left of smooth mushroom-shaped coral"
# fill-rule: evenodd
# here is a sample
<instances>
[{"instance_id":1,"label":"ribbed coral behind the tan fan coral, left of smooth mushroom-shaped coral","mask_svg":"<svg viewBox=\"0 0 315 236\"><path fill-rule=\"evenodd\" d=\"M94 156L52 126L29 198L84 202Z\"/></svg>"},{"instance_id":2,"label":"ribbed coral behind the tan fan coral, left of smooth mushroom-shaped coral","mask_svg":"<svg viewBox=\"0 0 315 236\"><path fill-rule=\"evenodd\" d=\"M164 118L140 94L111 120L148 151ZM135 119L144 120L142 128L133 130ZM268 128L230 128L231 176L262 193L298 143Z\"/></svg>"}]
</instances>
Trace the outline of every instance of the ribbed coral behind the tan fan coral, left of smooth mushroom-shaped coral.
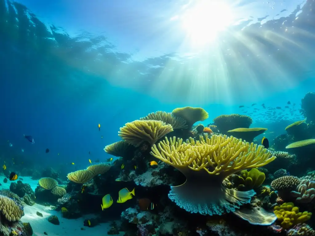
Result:
<instances>
[{"instance_id":1,"label":"ribbed coral behind the tan fan coral, left of smooth mushroom-shaped coral","mask_svg":"<svg viewBox=\"0 0 315 236\"><path fill-rule=\"evenodd\" d=\"M176 117L172 113L165 111L152 112L146 117L140 118L141 120L163 121L166 124L170 124L173 129L187 129L186 121L183 118Z\"/></svg>"}]
</instances>

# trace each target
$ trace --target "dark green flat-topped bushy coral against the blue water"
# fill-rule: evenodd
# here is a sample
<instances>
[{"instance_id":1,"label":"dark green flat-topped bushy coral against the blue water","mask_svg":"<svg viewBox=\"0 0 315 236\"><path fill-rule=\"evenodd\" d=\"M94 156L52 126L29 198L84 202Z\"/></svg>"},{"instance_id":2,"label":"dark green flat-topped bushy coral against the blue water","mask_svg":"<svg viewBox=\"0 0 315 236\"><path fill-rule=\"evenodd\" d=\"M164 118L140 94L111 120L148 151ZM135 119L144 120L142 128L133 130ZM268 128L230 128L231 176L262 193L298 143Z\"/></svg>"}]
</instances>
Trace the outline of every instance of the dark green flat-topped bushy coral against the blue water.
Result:
<instances>
[{"instance_id":1,"label":"dark green flat-topped bushy coral against the blue water","mask_svg":"<svg viewBox=\"0 0 315 236\"><path fill-rule=\"evenodd\" d=\"M228 130L249 128L253 120L247 115L231 114L219 115L213 122L221 133L226 134Z\"/></svg>"}]
</instances>

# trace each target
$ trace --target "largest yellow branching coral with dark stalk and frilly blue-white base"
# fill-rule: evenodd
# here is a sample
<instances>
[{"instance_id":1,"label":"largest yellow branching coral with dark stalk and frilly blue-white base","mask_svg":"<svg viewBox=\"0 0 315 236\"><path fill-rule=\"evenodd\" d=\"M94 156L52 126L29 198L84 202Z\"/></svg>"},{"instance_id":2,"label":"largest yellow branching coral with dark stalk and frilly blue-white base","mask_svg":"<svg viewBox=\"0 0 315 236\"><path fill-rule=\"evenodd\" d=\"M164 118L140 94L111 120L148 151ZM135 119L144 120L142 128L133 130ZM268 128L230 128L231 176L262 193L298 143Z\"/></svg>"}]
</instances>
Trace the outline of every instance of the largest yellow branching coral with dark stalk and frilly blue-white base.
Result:
<instances>
[{"instance_id":1,"label":"largest yellow branching coral with dark stalk and frilly blue-white base","mask_svg":"<svg viewBox=\"0 0 315 236\"><path fill-rule=\"evenodd\" d=\"M169 198L186 211L203 215L221 215L248 203L254 190L241 192L227 189L222 181L229 175L249 168L261 167L276 157L254 143L234 137L200 136L185 143L182 139L165 138L152 146L151 155L175 167L186 176L186 182L171 187Z\"/></svg>"}]
</instances>

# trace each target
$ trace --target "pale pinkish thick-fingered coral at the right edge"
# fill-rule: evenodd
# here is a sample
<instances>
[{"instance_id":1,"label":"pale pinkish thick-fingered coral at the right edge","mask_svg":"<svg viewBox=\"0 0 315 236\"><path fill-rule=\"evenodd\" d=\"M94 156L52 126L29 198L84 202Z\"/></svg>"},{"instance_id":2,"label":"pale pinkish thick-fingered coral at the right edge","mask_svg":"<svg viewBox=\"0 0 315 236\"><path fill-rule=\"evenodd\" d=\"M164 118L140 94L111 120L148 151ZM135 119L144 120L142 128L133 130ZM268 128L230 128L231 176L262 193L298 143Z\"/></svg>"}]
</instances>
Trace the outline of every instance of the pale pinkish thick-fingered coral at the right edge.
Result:
<instances>
[{"instance_id":1,"label":"pale pinkish thick-fingered coral at the right edge","mask_svg":"<svg viewBox=\"0 0 315 236\"><path fill-rule=\"evenodd\" d=\"M296 197L296 201L309 203L315 197L315 181L303 179L296 187L296 191L291 191L292 196Z\"/></svg>"}]
</instances>

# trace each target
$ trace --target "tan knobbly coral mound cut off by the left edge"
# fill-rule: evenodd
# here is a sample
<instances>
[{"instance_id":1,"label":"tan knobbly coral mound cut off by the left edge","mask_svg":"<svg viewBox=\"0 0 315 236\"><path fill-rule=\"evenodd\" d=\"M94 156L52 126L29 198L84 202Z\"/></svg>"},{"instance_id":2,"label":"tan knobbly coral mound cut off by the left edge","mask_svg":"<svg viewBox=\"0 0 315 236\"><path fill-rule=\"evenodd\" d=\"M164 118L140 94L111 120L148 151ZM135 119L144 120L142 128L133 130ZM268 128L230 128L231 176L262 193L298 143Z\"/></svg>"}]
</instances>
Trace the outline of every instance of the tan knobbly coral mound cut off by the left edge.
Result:
<instances>
[{"instance_id":1,"label":"tan knobbly coral mound cut off by the left edge","mask_svg":"<svg viewBox=\"0 0 315 236\"><path fill-rule=\"evenodd\" d=\"M6 196L0 195L0 211L8 221L18 221L24 215L23 210Z\"/></svg>"}]
</instances>

